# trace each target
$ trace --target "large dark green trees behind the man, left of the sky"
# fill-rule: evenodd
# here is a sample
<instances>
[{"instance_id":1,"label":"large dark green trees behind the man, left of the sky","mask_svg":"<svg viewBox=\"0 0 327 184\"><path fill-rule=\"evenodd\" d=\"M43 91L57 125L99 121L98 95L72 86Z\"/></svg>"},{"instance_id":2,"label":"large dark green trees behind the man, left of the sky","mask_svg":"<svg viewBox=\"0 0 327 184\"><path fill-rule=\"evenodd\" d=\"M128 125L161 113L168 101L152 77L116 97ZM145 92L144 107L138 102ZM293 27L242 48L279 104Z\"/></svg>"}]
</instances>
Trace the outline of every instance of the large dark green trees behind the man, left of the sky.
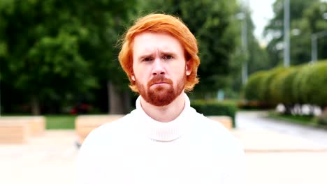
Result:
<instances>
[{"instance_id":1,"label":"large dark green trees behind the man, left of the sky","mask_svg":"<svg viewBox=\"0 0 327 184\"><path fill-rule=\"evenodd\" d=\"M196 36L201 57L196 96L240 86L235 82L240 81L244 54L236 53L240 50L241 22L235 18L239 11L235 0L0 1L1 90L17 96L5 98L5 106L29 103L26 106L38 114L44 106L63 109L87 99L101 108L107 105L101 112L126 112L128 108L121 106L131 103L131 92L117 59L117 40L131 20L153 12L181 17ZM265 56L253 40L248 21L252 72L264 68L260 61Z\"/></svg>"}]
</instances>

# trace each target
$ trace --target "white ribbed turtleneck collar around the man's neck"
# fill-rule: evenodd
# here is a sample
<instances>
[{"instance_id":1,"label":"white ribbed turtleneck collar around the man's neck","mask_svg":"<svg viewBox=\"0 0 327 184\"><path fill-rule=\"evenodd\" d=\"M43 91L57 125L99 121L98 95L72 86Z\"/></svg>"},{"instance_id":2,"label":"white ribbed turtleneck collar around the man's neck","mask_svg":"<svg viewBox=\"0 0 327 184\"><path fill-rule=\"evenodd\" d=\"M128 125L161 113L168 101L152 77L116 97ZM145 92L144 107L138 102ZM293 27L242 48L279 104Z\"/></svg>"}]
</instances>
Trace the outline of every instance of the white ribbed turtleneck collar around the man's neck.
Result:
<instances>
[{"instance_id":1,"label":"white ribbed turtleneck collar around the man's neck","mask_svg":"<svg viewBox=\"0 0 327 184\"><path fill-rule=\"evenodd\" d=\"M184 97L185 105L181 114L173 121L162 123L154 120L144 112L139 96L136 100L136 114L138 116L138 123L140 123L137 123L137 125L140 125L138 128L146 137L154 141L173 141L180 138L187 131L187 124L191 119L189 112L192 109L187 94L184 93Z\"/></svg>"}]
</instances>

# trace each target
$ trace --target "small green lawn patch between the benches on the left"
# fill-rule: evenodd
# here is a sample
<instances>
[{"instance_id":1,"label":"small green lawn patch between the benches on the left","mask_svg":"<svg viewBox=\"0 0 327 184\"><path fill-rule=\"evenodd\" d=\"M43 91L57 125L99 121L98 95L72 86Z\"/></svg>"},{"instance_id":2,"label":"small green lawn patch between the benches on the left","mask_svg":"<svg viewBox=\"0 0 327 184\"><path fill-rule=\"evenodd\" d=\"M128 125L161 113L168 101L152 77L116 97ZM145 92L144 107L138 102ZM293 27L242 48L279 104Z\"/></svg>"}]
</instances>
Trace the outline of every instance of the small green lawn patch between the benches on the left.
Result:
<instances>
[{"instance_id":1,"label":"small green lawn patch between the benches on the left","mask_svg":"<svg viewBox=\"0 0 327 184\"><path fill-rule=\"evenodd\" d=\"M75 118L72 115L49 115L45 116L46 129L75 129Z\"/></svg>"}]
</instances>

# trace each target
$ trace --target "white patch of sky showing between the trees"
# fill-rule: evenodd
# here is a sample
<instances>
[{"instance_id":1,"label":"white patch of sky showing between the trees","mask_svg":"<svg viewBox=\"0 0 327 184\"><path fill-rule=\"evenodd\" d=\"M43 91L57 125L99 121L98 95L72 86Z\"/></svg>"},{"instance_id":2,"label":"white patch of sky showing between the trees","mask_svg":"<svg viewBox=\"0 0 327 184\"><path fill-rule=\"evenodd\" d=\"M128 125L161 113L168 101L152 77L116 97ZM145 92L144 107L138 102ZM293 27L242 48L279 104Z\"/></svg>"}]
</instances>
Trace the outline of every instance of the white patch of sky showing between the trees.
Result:
<instances>
[{"instance_id":1,"label":"white patch of sky showing between the trees","mask_svg":"<svg viewBox=\"0 0 327 184\"><path fill-rule=\"evenodd\" d=\"M252 12L252 21L254 22L254 36L261 45L266 45L268 40L263 38L262 33L268 21L273 18L273 3L275 0L242 0L248 1Z\"/></svg>"}]
</instances>

